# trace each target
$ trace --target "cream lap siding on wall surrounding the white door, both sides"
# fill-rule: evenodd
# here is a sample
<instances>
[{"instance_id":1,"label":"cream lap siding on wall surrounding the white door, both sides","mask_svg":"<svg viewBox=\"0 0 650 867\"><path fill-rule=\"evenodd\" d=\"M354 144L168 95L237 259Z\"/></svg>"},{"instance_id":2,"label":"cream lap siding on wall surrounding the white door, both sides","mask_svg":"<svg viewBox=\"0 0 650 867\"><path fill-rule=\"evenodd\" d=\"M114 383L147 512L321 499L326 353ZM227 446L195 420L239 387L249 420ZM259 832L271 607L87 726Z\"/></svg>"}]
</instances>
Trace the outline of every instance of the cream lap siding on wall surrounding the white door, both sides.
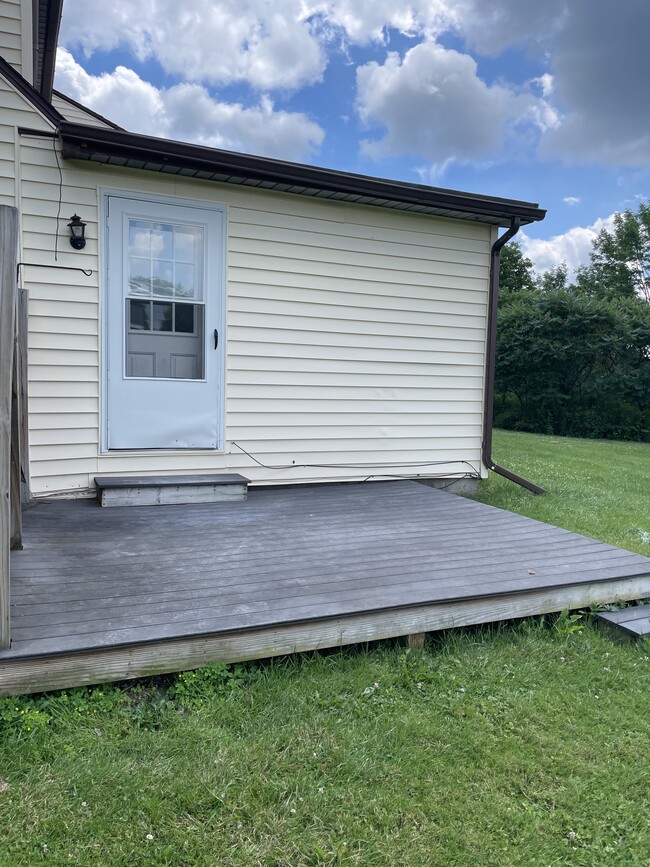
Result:
<instances>
[{"instance_id":1,"label":"cream lap siding on wall surrounding the white door, both sides","mask_svg":"<svg viewBox=\"0 0 650 867\"><path fill-rule=\"evenodd\" d=\"M21 154L24 256L54 264L52 144L23 139ZM88 488L98 473L224 470L263 483L480 470L489 227L91 164L62 171L57 264L93 274L25 272L36 493ZM228 205L223 453L99 452L100 186ZM83 253L67 240L74 211L88 223Z\"/></svg>"}]
</instances>

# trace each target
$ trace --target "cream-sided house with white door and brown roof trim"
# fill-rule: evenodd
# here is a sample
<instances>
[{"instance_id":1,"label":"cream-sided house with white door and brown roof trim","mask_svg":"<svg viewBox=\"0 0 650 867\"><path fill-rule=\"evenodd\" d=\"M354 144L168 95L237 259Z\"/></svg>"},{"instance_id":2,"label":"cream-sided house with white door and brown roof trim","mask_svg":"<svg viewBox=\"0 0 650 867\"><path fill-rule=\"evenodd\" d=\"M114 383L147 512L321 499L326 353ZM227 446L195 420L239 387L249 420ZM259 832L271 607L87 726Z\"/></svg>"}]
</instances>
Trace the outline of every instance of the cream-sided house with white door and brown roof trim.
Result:
<instances>
[{"instance_id":1,"label":"cream-sided house with white door and brown roof trim","mask_svg":"<svg viewBox=\"0 0 650 867\"><path fill-rule=\"evenodd\" d=\"M61 6L0 2L31 494L485 476L495 242L545 212L126 132L53 91Z\"/></svg>"}]
</instances>

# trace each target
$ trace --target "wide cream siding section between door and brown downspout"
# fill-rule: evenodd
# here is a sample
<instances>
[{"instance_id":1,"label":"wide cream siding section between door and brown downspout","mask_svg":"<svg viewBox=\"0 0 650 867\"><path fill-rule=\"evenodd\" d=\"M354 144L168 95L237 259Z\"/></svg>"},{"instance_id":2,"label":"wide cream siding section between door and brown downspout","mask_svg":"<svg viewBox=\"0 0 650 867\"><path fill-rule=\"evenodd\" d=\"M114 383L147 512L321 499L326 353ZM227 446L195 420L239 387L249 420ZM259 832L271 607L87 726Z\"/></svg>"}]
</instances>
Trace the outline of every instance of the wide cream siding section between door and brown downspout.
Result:
<instances>
[{"instance_id":1,"label":"wide cream siding section between door and brown downspout","mask_svg":"<svg viewBox=\"0 0 650 867\"><path fill-rule=\"evenodd\" d=\"M229 437L334 477L478 469L489 240L370 208L231 208Z\"/></svg>"}]
</instances>

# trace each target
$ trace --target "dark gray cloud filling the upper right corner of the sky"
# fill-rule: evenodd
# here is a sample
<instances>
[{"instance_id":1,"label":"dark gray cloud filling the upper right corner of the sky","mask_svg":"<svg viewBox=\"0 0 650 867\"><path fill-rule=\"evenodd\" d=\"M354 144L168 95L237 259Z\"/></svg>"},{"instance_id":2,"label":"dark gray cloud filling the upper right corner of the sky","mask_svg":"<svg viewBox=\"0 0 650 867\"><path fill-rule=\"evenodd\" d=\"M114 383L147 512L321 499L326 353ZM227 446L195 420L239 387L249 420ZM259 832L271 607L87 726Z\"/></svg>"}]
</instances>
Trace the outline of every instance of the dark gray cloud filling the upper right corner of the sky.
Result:
<instances>
[{"instance_id":1,"label":"dark gray cloud filling the upper right corner of the sky","mask_svg":"<svg viewBox=\"0 0 650 867\"><path fill-rule=\"evenodd\" d=\"M498 56L525 48L548 69L537 79L558 123L541 155L626 166L650 163L647 0L448 0L467 50Z\"/></svg>"}]
</instances>

